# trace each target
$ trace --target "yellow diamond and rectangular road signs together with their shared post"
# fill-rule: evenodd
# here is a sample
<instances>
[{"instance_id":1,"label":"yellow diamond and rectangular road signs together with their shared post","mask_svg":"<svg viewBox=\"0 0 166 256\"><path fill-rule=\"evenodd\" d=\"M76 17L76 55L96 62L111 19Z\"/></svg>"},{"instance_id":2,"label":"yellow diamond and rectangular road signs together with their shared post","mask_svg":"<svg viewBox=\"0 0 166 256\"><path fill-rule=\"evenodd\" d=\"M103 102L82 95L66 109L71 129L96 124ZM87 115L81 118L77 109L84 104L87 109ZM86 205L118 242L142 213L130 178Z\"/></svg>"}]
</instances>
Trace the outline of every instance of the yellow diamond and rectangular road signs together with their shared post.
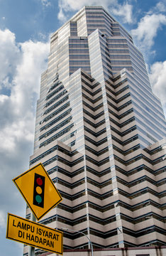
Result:
<instances>
[{"instance_id":1,"label":"yellow diamond and rectangular road signs together with their shared post","mask_svg":"<svg viewBox=\"0 0 166 256\"><path fill-rule=\"evenodd\" d=\"M40 220L62 201L43 165L34 166L14 178L13 182L31 208L33 221L8 213L6 238L30 245L29 256L34 256L34 247L62 255L63 233L35 223L35 218Z\"/></svg>"}]
</instances>

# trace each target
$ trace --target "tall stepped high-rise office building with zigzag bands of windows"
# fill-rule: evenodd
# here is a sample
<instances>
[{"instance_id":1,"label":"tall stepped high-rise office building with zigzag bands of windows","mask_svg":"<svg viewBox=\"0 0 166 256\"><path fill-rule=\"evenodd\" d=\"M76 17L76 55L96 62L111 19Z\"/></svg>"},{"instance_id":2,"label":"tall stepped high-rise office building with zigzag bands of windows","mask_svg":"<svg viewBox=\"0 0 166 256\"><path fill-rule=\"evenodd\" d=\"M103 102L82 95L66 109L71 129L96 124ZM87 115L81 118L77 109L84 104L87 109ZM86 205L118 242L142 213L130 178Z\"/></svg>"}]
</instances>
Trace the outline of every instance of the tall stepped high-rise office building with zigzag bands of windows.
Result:
<instances>
[{"instance_id":1,"label":"tall stepped high-rise office building with zigzag bands of windows","mask_svg":"<svg viewBox=\"0 0 166 256\"><path fill-rule=\"evenodd\" d=\"M87 248L77 230L96 248L166 245L165 127L142 53L103 7L52 34L30 167L41 162L63 198L40 223L75 230L64 249Z\"/></svg>"}]
</instances>

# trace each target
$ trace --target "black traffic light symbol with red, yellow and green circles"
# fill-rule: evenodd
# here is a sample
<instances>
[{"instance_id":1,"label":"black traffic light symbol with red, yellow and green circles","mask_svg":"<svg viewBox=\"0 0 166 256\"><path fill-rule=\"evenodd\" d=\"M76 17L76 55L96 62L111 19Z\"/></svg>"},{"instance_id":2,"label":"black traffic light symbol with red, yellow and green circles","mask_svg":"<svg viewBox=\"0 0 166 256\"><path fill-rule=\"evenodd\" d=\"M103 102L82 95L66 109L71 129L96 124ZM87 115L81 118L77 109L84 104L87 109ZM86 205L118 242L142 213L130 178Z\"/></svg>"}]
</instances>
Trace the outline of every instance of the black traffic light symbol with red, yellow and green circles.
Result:
<instances>
[{"instance_id":1,"label":"black traffic light symbol with red, yellow and green circles","mask_svg":"<svg viewBox=\"0 0 166 256\"><path fill-rule=\"evenodd\" d=\"M33 188L33 205L44 208L45 176L35 174Z\"/></svg>"}]
</instances>

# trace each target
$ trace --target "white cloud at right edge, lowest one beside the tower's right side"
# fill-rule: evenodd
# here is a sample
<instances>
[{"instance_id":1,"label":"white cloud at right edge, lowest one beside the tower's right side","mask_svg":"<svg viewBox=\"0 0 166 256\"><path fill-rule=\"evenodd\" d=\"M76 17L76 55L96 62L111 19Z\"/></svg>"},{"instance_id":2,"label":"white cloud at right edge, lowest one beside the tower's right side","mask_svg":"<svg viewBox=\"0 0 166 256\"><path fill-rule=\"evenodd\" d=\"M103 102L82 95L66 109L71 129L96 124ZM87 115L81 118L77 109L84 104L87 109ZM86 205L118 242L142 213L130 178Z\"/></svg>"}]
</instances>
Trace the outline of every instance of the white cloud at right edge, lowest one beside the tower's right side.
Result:
<instances>
[{"instance_id":1,"label":"white cloud at right edge, lowest one beside the tower's right side","mask_svg":"<svg viewBox=\"0 0 166 256\"><path fill-rule=\"evenodd\" d=\"M164 62L156 62L150 66L149 78L153 92L161 100L166 115L166 60Z\"/></svg>"}]
</instances>

